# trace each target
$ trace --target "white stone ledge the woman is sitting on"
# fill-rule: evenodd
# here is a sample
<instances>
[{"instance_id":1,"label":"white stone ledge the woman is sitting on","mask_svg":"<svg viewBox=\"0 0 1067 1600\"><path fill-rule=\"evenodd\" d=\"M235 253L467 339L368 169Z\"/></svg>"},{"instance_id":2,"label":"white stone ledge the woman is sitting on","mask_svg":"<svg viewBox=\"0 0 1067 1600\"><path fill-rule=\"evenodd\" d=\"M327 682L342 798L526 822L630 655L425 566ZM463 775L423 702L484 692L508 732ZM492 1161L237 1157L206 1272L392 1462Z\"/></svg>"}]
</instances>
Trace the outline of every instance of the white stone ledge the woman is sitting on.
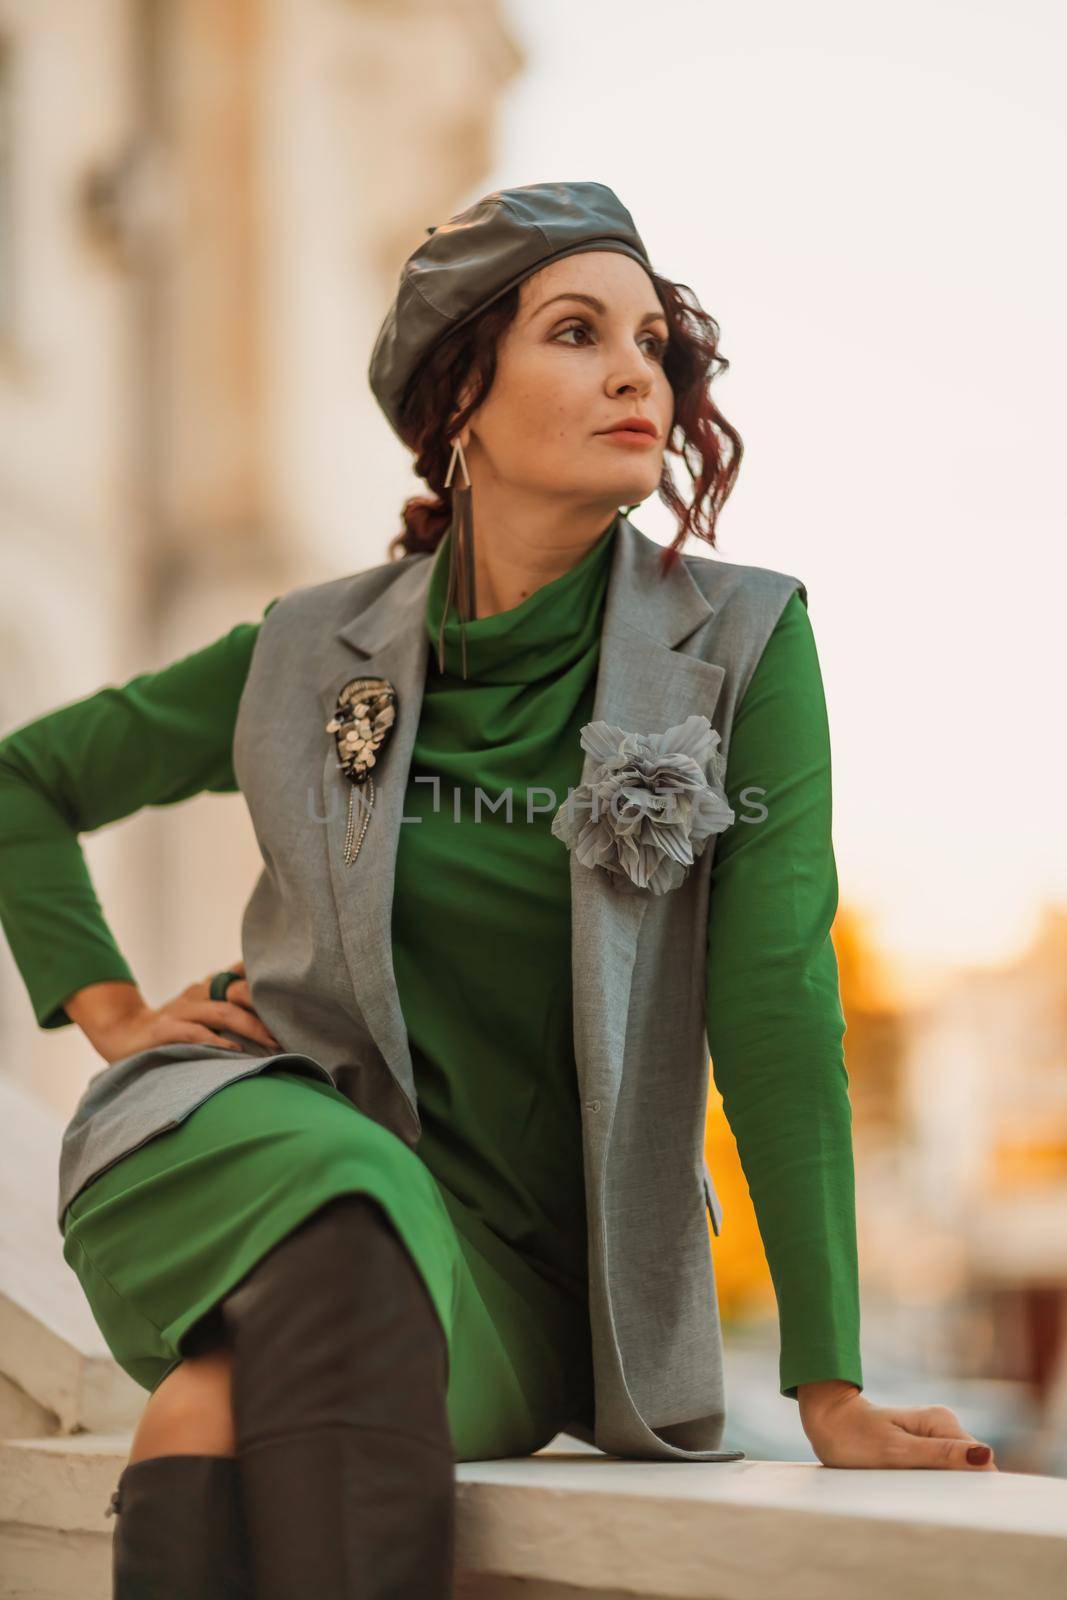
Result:
<instances>
[{"instance_id":1,"label":"white stone ledge the woman is sitting on","mask_svg":"<svg viewBox=\"0 0 1067 1600\"><path fill-rule=\"evenodd\" d=\"M128 1435L88 1434L0 1446L2 1600L109 1600L104 1512L128 1450ZM1062 1478L619 1461L560 1435L522 1461L461 1462L456 1488L456 1600L1062 1600L1067 1587Z\"/></svg>"}]
</instances>

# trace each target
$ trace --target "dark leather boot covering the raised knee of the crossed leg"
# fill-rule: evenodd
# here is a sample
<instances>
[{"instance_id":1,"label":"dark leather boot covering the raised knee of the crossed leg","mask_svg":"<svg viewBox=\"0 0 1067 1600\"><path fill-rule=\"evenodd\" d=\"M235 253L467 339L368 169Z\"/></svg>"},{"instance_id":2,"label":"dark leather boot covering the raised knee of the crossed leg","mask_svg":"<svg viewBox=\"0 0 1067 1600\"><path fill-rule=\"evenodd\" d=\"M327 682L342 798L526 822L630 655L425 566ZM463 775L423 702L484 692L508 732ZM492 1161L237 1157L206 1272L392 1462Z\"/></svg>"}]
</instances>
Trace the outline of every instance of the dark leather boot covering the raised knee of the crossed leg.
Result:
<instances>
[{"instance_id":1,"label":"dark leather boot covering the raised knee of the crossed leg","mask_svg":"<svg viewBox=\"0 0 1067 1600\"><path fill-rule=\"evenodd\" d=\"M448 1342L386 1211L320 1206L222 1317L258 1600L451 1597Z\"/></svg>"}]
</instances>

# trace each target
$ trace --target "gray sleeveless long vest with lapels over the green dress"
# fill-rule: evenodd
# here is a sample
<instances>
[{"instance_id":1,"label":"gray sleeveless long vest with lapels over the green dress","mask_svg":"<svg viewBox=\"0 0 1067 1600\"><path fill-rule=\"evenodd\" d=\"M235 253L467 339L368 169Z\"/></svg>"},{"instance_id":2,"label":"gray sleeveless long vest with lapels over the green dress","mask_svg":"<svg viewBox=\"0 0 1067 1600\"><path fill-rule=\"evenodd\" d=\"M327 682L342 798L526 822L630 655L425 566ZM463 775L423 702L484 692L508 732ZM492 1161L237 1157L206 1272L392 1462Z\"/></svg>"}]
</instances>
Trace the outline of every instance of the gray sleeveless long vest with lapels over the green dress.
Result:
<instances>
[{"instance_id":1,"label":"gray sleeveless long vest with lapels over the green dress","mask_svg":"<svg viewBox=\"0 0 1067 1600\"><path fill-rule=\"evenodd\" d=\"M793 589L806 600L805 586L769 568L699 555L661 579L657 560L659 546L621 517L593 718L661 733L697 712L728 752L734 710L763 646ZM413 555L298 589L264 619L234 736L234 766L264 861L242 942L256 1011L288 1048L264 1056L248 1040L243 1054L163 1045L98 1072L64 1134L59 1221L93 1176L269 1062L328 1078L408 1146L418 1142L390 922L427 669L430 566L432 557ZM398 715L374 768L366 838L346 866L350 784L323 730L341 686L362 674L389 678ZM592 765L587 757L582 781ZM571 853L597 1402L593 1432L573 1430L621 1456L744 1454L717 1448L723 1350L707 1211L718 1232L721 1208L704 1162L715 838L685 882L659 896L619 893Z\"/></svg>"}]
</instances>

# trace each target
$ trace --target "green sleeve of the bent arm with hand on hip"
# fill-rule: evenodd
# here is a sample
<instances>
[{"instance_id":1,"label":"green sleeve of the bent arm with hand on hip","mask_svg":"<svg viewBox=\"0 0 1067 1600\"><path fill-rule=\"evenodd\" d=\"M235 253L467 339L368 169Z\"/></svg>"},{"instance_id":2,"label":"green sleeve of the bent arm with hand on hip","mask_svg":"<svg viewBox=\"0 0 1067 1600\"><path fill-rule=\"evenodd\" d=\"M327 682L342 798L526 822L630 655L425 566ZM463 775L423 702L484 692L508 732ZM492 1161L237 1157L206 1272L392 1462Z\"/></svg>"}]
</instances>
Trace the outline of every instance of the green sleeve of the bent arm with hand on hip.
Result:
<instances>
[{"instance_id":1,"label":"green sleeve of the bent arm with hand on hip","mask_svg":"<svg viewBox=\"0 0 1067 1600\"><path fill-rule=\"evenodd\" d=\"M62 1002L86 984L136 982L78 834L146 805L237 789L234 725L259 627L238 622L0 739L0 925L40 1027L69 1026Z\"/></svg>"}]
</instances>

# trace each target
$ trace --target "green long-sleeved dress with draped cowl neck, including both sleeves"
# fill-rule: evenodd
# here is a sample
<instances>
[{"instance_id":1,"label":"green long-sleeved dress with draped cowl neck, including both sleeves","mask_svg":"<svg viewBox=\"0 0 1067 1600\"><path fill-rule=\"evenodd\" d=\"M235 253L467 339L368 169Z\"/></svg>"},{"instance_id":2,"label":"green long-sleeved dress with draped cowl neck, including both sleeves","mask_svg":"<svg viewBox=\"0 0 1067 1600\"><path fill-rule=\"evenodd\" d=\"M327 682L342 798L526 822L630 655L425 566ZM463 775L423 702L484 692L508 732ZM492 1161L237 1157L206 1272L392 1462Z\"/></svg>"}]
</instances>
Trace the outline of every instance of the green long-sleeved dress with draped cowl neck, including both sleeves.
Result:
<instances>
[{"instance_id":1,"label":"green long-sleeved dress with draped cowl neck, including both sleeves","mask_svg":"<svg viewBox=\"0 0 1067 1600\"><path fill-rule=\"evenodd\" d=\"M501 1453L486 1416L470 1421L477 1382L498 1368L501 1389L512 1386L510 1402L494 1400L507 1445L571 1411L590 1418L569 854L539 790L565 795L581 781L614 526L520 605L467 624L466 680L454 618L438 672L446 541L435 557L403 813L421 821L400 829L392 920L418 1154L330 1085L258 1074L98 1174L69 1208L64 1253L115 1358L146 1387L186 1354L197 1318L267 1238L325 1190L358 1189L405 1237L446 1326L458 1453L474 1451L459 1459ZM237 624L160 672L0 741L0 923L42 1027L69 1024L62 1002L74 990L134 981L78 834L142 805L237 789L232 733L258 627ZM709 1045L777 1296L779 1389L795 1398L797 1384L824 1378L862 1387L851 1106L830 942L830 749L798 594L734 717L726 794L739 819L753 813L753 789L774 795L769 819L731 826L712 867ZM283 1093L283 1107L269 1104ZM294 1162L288 1131L294 1096L318 1126L306 1163ZM315 1158L317 1138L328 1160ZM210 1208L208 1192L222 1203ZM253 1194L266 1198L250 1226ZM213 1229L219 1216L232 1226ZM182 1226L187 1218L197 1227Z\"/></svg>"}]
</instances>

